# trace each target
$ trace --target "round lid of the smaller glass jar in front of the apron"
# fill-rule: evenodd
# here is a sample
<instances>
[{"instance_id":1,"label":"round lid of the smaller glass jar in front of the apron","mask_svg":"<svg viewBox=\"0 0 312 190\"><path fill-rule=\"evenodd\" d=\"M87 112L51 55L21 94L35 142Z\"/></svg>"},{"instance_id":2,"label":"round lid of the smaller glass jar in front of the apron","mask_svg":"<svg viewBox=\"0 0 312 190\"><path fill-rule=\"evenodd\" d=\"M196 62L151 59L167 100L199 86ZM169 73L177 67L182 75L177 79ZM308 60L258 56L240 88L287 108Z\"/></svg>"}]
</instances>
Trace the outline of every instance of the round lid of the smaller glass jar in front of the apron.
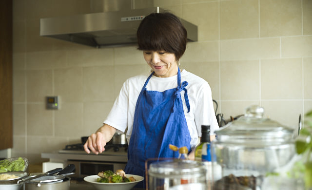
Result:
<instances>
[{"instance_id":1,"label":"round lid of the smaller glass jar in front of the apron","mask_svg":"<svg viewBox=\"0 0 312 190\"><path fill-rule=\"evenodd\" d=\"M194 160L180 160L174 161L158 161L150 164L149 175L160 177L175 177L183 175L204 174L206 169L204 164Z\"/></svg>"}]
</instances>

